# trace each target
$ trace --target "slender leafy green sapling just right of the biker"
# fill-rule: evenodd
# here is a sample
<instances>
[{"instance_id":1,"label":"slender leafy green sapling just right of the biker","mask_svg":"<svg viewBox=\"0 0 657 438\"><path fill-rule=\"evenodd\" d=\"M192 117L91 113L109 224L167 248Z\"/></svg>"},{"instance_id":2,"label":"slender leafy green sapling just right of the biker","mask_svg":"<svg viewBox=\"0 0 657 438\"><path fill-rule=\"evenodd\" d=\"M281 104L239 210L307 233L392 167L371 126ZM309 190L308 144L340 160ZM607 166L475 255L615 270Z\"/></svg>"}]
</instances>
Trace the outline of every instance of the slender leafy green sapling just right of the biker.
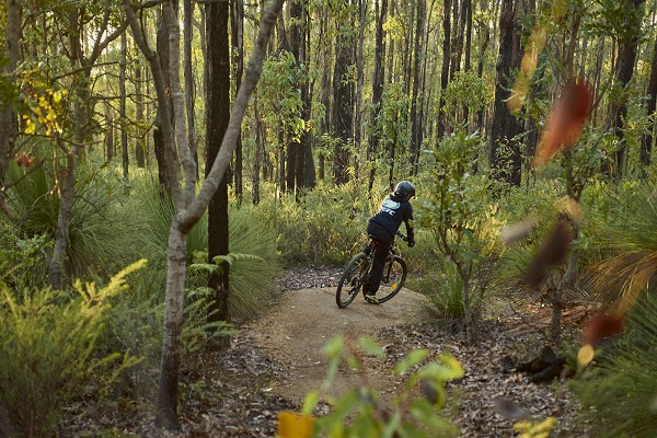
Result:
<instances>
[{"instance_id":1,"label":"slender leafy green sapling just right of the biker","mask_svg":"<svg viewBox=\"0 0 657 438\"><path fill-rule=\"evenodd\" d=\"M436 246L453 263L463 285L463 314L469 342L475 338L471 290L475 267L491 243L485 233L484 199L471 194L471 170L482 148L479 134L445 137L434 150L436 165L428 201L422 205L423 226L431 230Z\"/></svg>"}]
</instances>

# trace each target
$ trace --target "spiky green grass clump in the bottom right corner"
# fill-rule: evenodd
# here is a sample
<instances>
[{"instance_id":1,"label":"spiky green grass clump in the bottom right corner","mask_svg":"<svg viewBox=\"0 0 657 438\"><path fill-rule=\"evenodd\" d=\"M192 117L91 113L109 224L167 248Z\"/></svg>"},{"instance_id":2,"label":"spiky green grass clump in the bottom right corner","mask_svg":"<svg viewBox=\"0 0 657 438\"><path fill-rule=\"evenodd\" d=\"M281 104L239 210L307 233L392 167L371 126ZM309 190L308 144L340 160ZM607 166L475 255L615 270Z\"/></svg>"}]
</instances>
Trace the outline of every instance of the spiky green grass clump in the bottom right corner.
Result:
<instances>
[{"instance_id":1,"label":"spiky green grass clump in the bottom right corner","mask_svg":"<svg viewBox=\"0 0 657 438\"><path fill-rule=\"evenodd\" d=\"M657 290L634 306L624 336L603 348L573 388L597 437L652 438L657 430Z\"/></svg>"}]
</instances>

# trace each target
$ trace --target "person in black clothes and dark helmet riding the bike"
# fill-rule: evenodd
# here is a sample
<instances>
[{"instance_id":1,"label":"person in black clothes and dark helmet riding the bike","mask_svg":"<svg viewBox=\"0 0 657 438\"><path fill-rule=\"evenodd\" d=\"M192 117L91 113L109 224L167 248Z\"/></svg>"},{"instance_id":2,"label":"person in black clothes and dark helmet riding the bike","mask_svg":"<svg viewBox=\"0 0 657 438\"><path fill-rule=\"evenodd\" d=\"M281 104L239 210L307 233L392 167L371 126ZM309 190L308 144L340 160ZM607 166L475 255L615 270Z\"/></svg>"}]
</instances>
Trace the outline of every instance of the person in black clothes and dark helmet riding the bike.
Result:
<instances>
[{"instance_id":1,"label":"person in black clothes and dark helmet riding the bike","mask_svg":"<svg viewBox=\"0 0 657 438\"><path fill-rule=\"evenodd\" d=\"M415 187L408 181L401 181L383 203L379 212L372 216L367 224L367 233L377 238L379 243L374 253L374 261L370 270L368 283L364 285L365 299L378 304L377 290L383 276L383 265L390 253L390 247L402 222L406 224L408 246L415 245L413 230L413 206L411 198L415 196ZM369 247L369 246L368 246Z\"/></svg>"}]
</instances>

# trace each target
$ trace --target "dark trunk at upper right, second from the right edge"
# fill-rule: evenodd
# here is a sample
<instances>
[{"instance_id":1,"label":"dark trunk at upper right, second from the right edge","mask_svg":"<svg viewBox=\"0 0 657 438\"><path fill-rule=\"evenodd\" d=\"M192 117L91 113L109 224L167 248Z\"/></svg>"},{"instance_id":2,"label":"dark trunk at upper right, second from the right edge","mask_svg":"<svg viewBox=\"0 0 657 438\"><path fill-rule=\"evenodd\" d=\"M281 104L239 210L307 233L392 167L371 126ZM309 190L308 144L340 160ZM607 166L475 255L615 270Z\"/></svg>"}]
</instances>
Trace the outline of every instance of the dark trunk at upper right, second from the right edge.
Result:
<instances>
[{"instance_id":1,"label":"dark trunk at upper right, second from the right edge","mask_svg":"<svg viewBox=\"0 0 657 438\"><path fill-rule=\"evenodd\" d=\"M615 69L614 82L615 87L625 90L632 76L634 74L634 61L636 60L636 49L638 47L638 38L641 34L641 21L643 14L637 11L644 3L644 0L623 0L626 4L625 21L626 30L631 30L626 39L619 44L619 57ZM622 93L624 94L624 93ZM623 175L625 166L625 155L627 146L624 139L625 117L627 116L627 99L613 100L611 103L611 114L613 116L613 132L619 139L619 148L614 152L614 175L620 177Z\"/></svg>"}]
</instances>

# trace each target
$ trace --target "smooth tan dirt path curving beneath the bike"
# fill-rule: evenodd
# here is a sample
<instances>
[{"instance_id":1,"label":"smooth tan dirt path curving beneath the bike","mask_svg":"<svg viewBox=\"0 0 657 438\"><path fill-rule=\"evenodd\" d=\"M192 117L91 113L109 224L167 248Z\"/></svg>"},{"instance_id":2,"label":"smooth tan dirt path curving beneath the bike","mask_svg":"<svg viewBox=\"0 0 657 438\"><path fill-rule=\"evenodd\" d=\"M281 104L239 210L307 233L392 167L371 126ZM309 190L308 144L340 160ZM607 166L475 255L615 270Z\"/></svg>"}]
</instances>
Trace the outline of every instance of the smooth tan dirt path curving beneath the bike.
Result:
<instances>
[{"instance_id":1,"label":"smooth tan dirt path curving beneath the bike","mask_svg":"<svg viewBox=\"0 0 657 438\"><path fill-rule=\"evenodd\" d=\"M306 394L320 389L326 378L328 360L322 347L333 336L342 334L351 341L374 337L379 328L419 321L426 306L425 297L405 288L379 306L369 304L360 295L346 309L335 303L335 287L301 289L285 292L270 311L244 330L263 354L289 372L287 379L274 383L273 392L302 404ZM379 359L366 358L367 384L385 393L390 374L378 376L380 367L371 360ZM323 394L339 396L361 383L361 376L343 365Z\"/></svg>"}]
</instances>

